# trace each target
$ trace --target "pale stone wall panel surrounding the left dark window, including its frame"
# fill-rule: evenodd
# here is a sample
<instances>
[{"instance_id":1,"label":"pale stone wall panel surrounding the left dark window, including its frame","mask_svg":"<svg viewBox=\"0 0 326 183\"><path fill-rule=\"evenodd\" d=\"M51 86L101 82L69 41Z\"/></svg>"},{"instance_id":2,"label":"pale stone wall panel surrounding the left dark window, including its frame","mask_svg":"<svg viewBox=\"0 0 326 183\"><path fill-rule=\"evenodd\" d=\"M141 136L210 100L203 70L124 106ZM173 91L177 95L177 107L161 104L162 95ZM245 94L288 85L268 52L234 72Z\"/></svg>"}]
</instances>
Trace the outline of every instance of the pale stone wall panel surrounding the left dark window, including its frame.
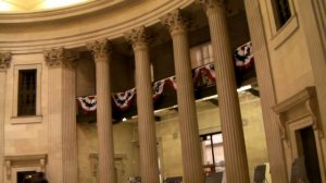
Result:
<instances>
[{"instance_id":1,"label":"pale stone wall panel surrounding the left dark window, including its frame","mask_svg":"<svg viewBox=\"0 0 326 183\"><path fill-rule=\"evenodd\" d=\"M16 117L14 90L17 89L16 69L34 68L40 70L40 83L37 95L41 98L37 103L39 111L36 118ZM43 54L13 56L12 64L7 72L5 86L5 123L4 123L4 156L46 154L48 150L48 68Z\"/></svg>"}]
</instances>

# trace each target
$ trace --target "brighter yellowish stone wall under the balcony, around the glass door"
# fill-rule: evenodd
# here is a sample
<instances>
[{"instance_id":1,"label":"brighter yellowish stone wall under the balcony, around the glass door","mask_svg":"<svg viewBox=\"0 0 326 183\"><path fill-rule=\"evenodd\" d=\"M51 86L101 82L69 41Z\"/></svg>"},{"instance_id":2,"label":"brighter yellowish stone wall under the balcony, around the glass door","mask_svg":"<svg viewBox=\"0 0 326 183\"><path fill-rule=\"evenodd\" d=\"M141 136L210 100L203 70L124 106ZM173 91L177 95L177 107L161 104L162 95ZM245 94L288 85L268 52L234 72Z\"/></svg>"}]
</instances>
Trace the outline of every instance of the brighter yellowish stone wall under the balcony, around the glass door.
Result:
<instances>
[{"instance_id":1,"label":"brighter yellowish stone wall under the balcony, around the glass door","mask_svg":"<svg viewBox=\"0 0 326 183\"><path fill-rule=\"evenodd\" d=\"M249 171L253 180L254 168L266 163L267 149L262 120L260 99L249 93L240 95L241 114L246 138L246 148L249 161ZM201 111L202 105L197 105L199 134L221 132L218 108ZM156 124L160 139L160 158L163 166L163 176L177 176L183 174L181 149L179 138L178 119L171 114Z\"/></svg>"}]
</instances>

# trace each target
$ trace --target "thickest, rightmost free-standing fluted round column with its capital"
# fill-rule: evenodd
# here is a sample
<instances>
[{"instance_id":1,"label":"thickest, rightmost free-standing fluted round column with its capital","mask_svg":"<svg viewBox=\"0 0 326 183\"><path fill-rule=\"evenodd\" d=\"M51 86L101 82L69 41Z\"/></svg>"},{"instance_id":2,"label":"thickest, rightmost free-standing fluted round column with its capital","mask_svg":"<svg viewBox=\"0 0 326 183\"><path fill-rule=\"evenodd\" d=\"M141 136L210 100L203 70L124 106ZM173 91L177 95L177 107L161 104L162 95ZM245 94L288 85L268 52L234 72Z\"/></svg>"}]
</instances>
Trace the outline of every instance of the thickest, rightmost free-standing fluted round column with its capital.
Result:
<instances>
[{"instance_id":1,"label":"thickest, rightmost free-standing fluted round column with its capital","mask_svg":"<svg viewBox=\"0 0 326 183\"><path fill-rule=\"evenodd\" d=\"M209 19L227 182L250 182L237 84L223 1L199 0Z\"/></svg>"}]
</instances>

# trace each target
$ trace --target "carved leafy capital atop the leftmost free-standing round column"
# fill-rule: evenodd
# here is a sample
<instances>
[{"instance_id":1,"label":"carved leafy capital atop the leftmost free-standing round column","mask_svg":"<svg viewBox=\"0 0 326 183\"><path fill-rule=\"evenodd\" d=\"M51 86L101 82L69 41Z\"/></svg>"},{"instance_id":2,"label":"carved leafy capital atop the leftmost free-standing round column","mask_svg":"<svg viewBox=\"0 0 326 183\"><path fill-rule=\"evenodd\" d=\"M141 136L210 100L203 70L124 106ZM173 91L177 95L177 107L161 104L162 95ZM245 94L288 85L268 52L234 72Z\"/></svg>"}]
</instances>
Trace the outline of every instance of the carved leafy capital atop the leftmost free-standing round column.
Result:
<instances>
[{"instance_id":1,"label":"carved leafy capital atop the leftmost free-standing round column","mask_svg":"<svg viewBox=\"0 0 326 183\"><path fill-rule=\"evenodd\" d=\"M96 62L108 60L112 52L112 44L108 39L86 44L86 48L91 51Z\"/></svg>"}]
</instances>

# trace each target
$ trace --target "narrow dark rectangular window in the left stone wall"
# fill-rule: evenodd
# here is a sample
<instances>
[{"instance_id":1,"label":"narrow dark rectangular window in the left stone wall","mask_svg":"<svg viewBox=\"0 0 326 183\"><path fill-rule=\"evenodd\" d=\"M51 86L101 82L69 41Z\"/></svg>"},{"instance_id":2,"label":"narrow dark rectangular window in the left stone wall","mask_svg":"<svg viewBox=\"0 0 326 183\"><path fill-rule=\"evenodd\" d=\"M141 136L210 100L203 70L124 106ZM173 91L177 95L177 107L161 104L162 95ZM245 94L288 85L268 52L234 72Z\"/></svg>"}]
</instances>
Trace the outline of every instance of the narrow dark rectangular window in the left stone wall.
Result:
<instances>
[{"instance_id":1,"label":"narrow dark rectangular window in the left stone wall","mask_svg":"<svg viewBox=\"0 0 326 183\"><path fill-rule=\"evenodd\" d=\"M20 70L17 115L36 114L36 70Z\"/></svg>"}]
</instances>

